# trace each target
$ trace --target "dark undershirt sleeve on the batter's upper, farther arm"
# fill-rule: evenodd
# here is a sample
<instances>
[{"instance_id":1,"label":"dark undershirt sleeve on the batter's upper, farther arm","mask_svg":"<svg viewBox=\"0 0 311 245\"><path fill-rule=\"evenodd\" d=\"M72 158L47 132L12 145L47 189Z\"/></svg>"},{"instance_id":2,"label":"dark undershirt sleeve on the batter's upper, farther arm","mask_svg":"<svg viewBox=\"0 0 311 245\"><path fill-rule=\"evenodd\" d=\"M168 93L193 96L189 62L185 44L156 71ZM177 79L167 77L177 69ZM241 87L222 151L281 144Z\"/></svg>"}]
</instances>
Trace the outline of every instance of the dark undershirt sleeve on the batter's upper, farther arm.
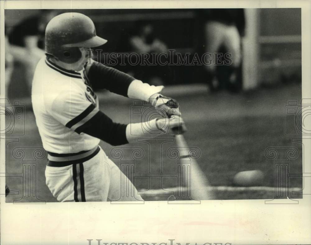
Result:
<instances>
[{"instance_id":1,"label":"dark undershirt sleeve on the batter's upper, farther arm","mask_svg":"<svg viewBox=\"0 0 311 245\"><path fill-rule=\"evenodd\" d=\"M126 73L104 66L100 63L91 65L87 74L92 87L97 89L108 89L112 93L117 93L128 97L128 87L135 78Z\"/></svg>"}]
</instances>

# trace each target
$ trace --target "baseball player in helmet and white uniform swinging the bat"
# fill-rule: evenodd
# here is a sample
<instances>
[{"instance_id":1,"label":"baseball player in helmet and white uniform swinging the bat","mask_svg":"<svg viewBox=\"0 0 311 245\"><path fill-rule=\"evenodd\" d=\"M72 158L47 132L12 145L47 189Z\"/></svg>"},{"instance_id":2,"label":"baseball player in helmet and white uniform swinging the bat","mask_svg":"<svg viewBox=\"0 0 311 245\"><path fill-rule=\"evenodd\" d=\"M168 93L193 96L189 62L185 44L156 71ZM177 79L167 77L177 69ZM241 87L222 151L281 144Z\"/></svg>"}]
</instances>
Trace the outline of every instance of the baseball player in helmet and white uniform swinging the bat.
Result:
<instances>
[{"instance_id":1,"label":"baseball player in helmet and white uniform swinging the bat","mask_svg":"<svg viewBox=\"0 0 311 245\"><path fill-rule=\"evenodd\" d=\"M46 27L46 57L36 67L32 105L48 153L46 184L59 202L142 200L132 183L134 195L121 197L127 177L99 147L100 140L122 145L184 125L177 102L160 94L163 86L150 86L89 60L87 49L106 42L96 35L92 20L80 13L58 15ZM99 110L95 88L147 101L173 116L115 123Z\"/></svg>"}]
</instances>

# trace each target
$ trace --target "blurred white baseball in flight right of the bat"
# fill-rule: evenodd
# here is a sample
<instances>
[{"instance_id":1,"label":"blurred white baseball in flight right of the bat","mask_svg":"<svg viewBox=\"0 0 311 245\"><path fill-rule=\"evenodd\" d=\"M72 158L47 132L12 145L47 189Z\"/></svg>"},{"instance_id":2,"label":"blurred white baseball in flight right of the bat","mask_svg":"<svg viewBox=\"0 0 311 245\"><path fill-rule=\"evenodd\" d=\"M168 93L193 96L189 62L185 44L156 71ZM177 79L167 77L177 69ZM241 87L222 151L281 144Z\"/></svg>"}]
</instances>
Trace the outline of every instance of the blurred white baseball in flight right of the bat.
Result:
<instances>
[{"instance_id":1,"label":"blurred white baseball in flight right of the bat","mask_svg":"<svg viewBox=\"0 0 311 245\"><path fill-rule=\"evenodd\" d=\"M260 186L263 184L263 173L261 170L242 171L233 178L233 184L238 186Z\"/></svg>"}]
</instances>

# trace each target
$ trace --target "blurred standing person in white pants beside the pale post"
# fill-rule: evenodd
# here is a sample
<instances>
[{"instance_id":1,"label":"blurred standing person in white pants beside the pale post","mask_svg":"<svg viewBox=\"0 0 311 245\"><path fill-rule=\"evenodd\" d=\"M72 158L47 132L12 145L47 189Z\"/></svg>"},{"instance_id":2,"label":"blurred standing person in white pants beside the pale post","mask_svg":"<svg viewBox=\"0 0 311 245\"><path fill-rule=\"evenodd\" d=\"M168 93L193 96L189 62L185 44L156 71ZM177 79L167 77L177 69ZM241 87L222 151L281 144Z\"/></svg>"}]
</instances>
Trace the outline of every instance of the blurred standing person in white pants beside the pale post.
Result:
<instances>
[{"instance_id":1,"label":"blurred standing person in white pants beside the pale post","mask_svg":"<svg viewBox=\"0 0 311 245\"><path fill-rule=\"evenodd\" d=\"M200 9L198 19L203 24L204 44L201 52L211 53L212 64L204 66L211 91L229 89L238 92L242 88L241 37L244 36L245 16L243 9ZM215 53L231 53L232 64L215 65ZM223 61L223 59L222 59ZM206 62L208 62L206 60Z\"/></svg>"}]
</instances>

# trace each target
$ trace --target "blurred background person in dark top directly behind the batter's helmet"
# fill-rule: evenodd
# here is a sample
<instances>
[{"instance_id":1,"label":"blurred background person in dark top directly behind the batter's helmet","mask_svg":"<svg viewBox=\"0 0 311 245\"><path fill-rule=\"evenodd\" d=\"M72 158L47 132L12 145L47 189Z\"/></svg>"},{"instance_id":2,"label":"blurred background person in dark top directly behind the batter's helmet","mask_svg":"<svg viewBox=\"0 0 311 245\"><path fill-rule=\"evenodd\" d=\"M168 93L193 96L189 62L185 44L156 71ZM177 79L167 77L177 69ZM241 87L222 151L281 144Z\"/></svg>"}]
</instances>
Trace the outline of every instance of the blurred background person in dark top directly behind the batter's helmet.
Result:
<instances>
[{"instance_id":1,"label":"blurred background person in dark top directly behind the batter's helmet","mask_svg":"<svg viewBox=\"0 0 311 245\"><path fill-rule=\"evenodd\" d=\"M15 64L24 70L25 81L31 90L32 78L39 59L44 56L44 33L49 20L58 14L55 10L42 10L40 14L21 20L8 35L10 54Z\"/></svg>"}]
</instances>

